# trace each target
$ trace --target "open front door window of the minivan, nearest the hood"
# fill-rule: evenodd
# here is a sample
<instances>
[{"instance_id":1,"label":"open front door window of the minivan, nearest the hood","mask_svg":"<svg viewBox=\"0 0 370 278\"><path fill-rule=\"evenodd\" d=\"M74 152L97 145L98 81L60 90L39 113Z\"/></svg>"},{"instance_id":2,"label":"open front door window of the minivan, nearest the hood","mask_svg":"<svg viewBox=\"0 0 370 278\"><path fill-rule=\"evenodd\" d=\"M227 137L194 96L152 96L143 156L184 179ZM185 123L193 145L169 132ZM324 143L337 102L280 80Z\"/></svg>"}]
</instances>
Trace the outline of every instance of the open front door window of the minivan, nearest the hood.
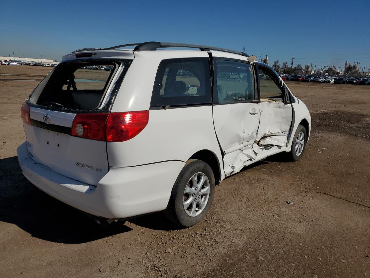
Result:
<instances>
[{"instance_id":1,"label":"open front door window of the minivan, nearest the hood","mask_svg":"<svg viewBox=\"0 0 370 278\"><path fill-rule=\"evenodd\" d=\"M283 93L276 85L272 74L259 68L260 101L283 101Z\"/></svg>"}]
</instances>

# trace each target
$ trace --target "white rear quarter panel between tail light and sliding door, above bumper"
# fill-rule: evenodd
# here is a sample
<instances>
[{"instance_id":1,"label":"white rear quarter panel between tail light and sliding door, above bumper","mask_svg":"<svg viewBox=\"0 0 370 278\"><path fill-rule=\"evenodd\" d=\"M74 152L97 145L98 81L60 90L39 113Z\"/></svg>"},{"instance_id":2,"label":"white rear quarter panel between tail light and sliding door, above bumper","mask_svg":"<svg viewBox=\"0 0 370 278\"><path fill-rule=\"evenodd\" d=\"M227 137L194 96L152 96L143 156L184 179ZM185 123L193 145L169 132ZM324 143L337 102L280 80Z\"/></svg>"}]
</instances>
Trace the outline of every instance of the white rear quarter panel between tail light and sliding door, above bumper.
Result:
<instances>
[{"instance_id":1,"label":"white rear quarter panel between tail light and sliding door, above bumper","mask_svg":"<svg viewBox=\"0 0 370 278\"><path fill-rule=\"evenodd\" d=\"M168 160L185 162L203 149L211 150L218 162L222 162L211 105L151 110L148 125L137 136L124 142L107 143L111 167Z\"/></svg>"}]
</instances>

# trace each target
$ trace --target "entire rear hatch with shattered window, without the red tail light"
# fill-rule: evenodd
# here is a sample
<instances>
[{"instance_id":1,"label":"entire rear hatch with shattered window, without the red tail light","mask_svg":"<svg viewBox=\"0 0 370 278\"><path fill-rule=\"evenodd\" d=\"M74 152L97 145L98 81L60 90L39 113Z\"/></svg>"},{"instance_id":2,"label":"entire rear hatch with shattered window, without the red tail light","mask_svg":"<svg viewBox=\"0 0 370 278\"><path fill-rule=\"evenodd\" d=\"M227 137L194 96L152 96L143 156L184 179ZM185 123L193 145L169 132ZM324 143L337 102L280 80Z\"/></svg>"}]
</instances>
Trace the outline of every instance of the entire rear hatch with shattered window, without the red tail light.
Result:
<instances>
[{"instance_id":1,"label":"entire rear hatch with shattered window, without the red tail light","mask_svg":"<svg viewBox=\"0 0 370 278\"><path fill-rule=\"evenodd\" d=\"M73 120L77 114L110 111L130 62L100 59L58 65L28 99L31 125L23 123L28 155L57 173L97 185L108 172L107 143L72 136Z\"/></svg>"}]
</instances>

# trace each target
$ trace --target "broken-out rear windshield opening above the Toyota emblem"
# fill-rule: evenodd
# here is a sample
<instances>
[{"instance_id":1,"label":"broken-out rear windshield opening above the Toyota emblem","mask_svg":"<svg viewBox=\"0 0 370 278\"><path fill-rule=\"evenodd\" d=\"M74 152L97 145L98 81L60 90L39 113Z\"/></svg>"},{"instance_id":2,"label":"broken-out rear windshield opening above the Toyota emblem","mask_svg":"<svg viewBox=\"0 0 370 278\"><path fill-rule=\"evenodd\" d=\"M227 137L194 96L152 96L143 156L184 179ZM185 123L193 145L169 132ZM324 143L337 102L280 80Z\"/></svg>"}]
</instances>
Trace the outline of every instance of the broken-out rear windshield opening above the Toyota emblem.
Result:
<instances>
[{"instance_id":1,"label":"broken-out rear windshield opening above the Toyota emblem","mask_svg":"<svg viewBox=\"0 0 370 278\"><path fill-rule=\"evenodd\" d=\"M57 66L37 105L93 110L100 104L116 69L115 63L66 63Z\"/></svg>"}]
</instances>

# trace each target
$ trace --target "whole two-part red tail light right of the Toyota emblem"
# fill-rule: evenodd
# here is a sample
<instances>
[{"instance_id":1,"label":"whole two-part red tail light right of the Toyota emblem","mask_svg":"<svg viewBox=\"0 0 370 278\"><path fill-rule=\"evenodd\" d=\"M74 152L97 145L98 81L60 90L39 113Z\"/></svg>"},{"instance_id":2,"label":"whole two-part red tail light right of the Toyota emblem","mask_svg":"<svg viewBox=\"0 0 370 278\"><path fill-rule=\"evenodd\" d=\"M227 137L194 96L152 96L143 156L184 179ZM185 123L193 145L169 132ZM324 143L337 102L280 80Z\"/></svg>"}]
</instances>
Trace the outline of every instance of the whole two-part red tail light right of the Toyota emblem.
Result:
<instances>
[{"instance_id":1,"label":"whole two-part red tail light right of the Toyota emblem","mask_svg":"<svg viewBox=\"0 0 370 278\"><path fill-rule=\"evenodd\" d=\"M107 142L123 142L138 135L149 120L149 111L77 114L71 135Z\"/></svg>"}]
</instances>

